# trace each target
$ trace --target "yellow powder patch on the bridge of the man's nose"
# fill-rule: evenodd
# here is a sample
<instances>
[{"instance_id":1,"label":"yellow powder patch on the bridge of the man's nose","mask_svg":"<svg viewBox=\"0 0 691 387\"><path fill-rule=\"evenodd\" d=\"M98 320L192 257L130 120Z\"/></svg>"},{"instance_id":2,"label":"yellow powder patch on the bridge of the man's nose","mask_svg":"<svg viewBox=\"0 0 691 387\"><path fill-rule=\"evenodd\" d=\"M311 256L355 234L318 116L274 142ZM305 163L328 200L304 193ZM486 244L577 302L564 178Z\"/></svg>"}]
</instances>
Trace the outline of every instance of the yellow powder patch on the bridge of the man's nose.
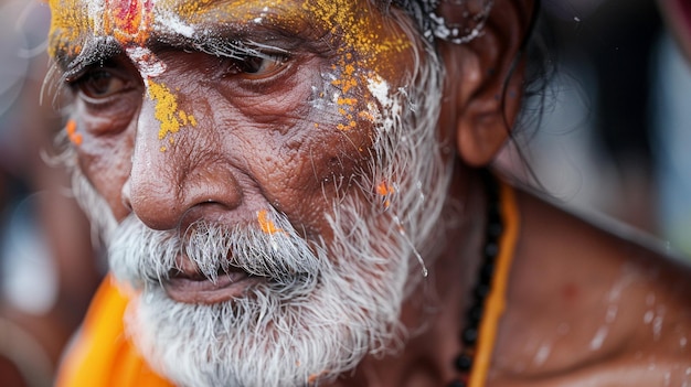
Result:
<instances>
[{"instance_id":1,"label":"yellow powder patch on the bridge of the man's nose","mask_svg":"<svg viewBox=\"0 0 691 387\"><path fill-rule=\"evenodd\" d=\"M194 116L178 109L178 98L166 85L147 79L147 88L149 98L156 101L153 116L161 122L158 130L159 140L177 133L180 127L188 123L192 127L196 126ZM169 141L172 143L172 138ZM164 149L161 148L161 150Z\"/></svg>"}]
</instances>

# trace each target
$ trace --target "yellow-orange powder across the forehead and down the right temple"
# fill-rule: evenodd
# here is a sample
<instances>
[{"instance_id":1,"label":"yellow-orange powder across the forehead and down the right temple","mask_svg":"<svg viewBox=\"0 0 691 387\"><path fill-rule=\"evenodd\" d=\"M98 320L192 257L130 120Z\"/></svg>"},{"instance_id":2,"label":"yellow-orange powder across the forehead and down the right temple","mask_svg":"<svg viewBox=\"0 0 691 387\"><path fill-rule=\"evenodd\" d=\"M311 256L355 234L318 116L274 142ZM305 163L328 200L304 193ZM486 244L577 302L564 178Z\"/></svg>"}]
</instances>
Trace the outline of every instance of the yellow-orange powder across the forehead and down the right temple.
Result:
<instances>
[{"instance_id":1,"label":"yellow-orange powder across the forehead and down the right temple","mask_svg":"<svg viewBox=\"0 0 691 387\"><path fill-rule=\"evenodd\" d=\"M226 22L276 24L299 33L298 25L307 22L325 32L337 50L332 66L338 88L338 112L343 122L337 127L350 130L357 127L362 106L372 105L371 96L363 95L369 77L389 78L400 73L396 68L412 43L366 0L159 0L157 7L173 9L180 21L188 24ZM368 99L368 100L363 100ZM360 107L360 108L359 108Z\"/></svg>"}]
</instances>

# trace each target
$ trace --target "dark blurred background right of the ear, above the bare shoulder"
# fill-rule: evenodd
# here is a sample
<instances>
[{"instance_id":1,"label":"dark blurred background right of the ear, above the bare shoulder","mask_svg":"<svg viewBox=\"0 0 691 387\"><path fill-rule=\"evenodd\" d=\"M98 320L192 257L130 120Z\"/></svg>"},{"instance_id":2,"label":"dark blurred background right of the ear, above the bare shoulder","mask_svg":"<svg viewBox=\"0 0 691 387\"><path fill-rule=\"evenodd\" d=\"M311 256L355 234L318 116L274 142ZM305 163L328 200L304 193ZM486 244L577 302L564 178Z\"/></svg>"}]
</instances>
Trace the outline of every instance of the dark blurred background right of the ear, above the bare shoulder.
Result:
<instances>
[{"instance_id":1,"label":"dark blurred background right of the ear, above the bare shoulder","mask_svg":"<svg viewBox=\"0 0 691 387\"><path fill-rule=\"evenodd\" d=\"M660 0L673 2L688 3ZM621 233L632 226L647 234L634 238L656 237L658 247L689 259L691 67L658 3L542 7L538 39L549 80L499 165L575 213Z\"/></svg>"}]
</instances>

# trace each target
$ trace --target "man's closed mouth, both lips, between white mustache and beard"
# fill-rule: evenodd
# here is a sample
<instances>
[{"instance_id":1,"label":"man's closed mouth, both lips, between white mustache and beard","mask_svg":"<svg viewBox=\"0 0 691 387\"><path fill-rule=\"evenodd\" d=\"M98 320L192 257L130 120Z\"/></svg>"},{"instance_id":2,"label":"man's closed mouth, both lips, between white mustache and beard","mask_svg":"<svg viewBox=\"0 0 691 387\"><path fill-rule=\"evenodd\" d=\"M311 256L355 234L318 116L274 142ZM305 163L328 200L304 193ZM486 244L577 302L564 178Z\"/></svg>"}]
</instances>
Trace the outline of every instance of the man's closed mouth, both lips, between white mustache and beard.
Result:
<instances>
[{"instance_id":1,"label":"man's closed mouth, both lips, between white mustache and beard","mask_svg":"<svg viewBox=\"0 0 691 387\"><path fill-rule=\"evenodd\" d=\"M212 281L199 271L196 265L182 258L179 268L170 271L163 287L174 301L213 304L242 298L252 286L265 281L264 277L252 276L234 266L219 270Z\"/></svg>"}]
</instances>

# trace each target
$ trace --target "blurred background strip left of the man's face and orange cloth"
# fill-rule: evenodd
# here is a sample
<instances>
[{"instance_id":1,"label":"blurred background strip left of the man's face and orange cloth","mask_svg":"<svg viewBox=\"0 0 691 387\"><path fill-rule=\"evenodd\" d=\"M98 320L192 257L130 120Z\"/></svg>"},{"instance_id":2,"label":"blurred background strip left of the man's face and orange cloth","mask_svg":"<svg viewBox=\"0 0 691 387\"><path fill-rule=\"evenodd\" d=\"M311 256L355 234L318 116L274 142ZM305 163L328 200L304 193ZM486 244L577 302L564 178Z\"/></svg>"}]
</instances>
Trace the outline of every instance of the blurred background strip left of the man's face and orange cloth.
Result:
<instances>
[{"instance_id":1,"label":"blurred background strip left of the man's face and orange cloth","mask_svg":"<svg viewBox=\"0 0 691 387\"><path fill-rule=\"evenodd\" d=\"M103 266L68 176L47 160L62 121L50 93L47 6L0 0L0 386L52 386Z\"/></svg>"}]
</instances>

